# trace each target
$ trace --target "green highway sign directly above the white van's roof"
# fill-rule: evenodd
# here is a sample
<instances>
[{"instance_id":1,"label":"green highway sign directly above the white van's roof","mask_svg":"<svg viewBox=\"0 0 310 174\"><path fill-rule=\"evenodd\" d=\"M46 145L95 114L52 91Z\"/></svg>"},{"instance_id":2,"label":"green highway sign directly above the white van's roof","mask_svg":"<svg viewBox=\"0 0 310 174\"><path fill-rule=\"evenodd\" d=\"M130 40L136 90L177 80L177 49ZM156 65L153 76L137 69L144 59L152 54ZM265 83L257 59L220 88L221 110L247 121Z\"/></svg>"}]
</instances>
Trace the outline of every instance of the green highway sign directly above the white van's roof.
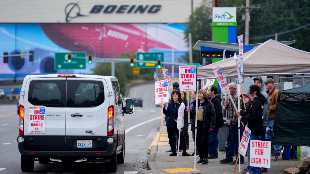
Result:
<instances>
[{"instance_id":1,"label":"green highway sign directly above the white van's roof","mask_svg":"<svg viewBox=\"0 0 310 174\"><path fill-rule=\"evenodd\" d=\"M71 63L68 63L68 54L72 54ZM55 53L54 68L55 70L86 69L86 52Z\"/></svg>"}]
</instances>

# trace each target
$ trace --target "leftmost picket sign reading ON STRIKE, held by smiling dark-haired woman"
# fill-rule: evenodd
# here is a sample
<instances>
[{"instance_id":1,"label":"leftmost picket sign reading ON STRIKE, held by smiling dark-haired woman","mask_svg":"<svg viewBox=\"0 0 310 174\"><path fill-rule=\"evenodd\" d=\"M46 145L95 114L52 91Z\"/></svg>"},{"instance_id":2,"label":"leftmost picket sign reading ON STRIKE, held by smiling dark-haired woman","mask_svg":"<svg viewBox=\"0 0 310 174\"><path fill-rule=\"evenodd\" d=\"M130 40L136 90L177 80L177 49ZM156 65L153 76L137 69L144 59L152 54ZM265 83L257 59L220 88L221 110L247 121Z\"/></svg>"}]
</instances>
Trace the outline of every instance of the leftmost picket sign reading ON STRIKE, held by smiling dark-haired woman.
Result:
<instances>
[{"instance_id":1,"label":"leftmost picket sign reading ON STRIKE, held by smiling dark-haired woman","mask_svg":"<svg viewBox=\"0 0 310 174\"><path fill-rule=\"evenodd\" d=\"M168 80L155 82L155 104L169 101Z\"/></svg>"}]
</instances>

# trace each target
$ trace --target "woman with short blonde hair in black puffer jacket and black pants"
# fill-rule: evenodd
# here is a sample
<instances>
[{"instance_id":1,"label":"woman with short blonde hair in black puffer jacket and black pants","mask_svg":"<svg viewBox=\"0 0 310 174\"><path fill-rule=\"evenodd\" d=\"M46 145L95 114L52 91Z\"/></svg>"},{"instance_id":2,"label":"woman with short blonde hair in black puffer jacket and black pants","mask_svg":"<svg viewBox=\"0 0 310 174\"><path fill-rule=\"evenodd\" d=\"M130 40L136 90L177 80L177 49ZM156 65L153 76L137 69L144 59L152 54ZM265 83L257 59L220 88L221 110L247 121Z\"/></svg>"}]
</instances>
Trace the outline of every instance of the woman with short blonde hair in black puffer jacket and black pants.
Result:
<instances>
[{"instance_id":1,"label":"woman with short blonde hair in black puffer jacket and black pants","mask_svg":"<svg viewBox=\"0 0 310 174\"><path fill-rule=\"evenodd\" d=\"M210 100L207 99L208 94L204 89L198 91L198 106L193 103L193 107L190 110L190 118L193 119L192 123L196 119L196 107L197 107L197 147L199 153L199 161L197 164L207 165L209 164L209 134L214 131L215 128L215 109ZM195 124L195 123L194 123Z\"/></svg>"}]
</instances>

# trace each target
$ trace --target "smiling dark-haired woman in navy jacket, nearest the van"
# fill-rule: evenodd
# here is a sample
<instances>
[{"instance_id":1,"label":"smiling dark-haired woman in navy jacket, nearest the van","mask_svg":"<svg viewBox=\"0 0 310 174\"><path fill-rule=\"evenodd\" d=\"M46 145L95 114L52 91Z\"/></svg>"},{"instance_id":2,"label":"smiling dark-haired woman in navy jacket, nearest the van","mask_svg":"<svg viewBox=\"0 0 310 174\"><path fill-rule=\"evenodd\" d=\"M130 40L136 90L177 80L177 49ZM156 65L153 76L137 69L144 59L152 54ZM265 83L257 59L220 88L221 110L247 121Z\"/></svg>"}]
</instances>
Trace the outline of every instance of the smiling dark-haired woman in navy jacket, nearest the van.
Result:
<instances>
[{"instance_id":1,"label":"smiling dark-haired woman in navy jacket, nearest the van","mask_svg":"<svg viewBox=\"0 0 310 174\"><path fill-rule=\"evenodd\" d=\"M179 130L176 128L176 121L178 119L178 112L179 107L181 106L181 103L183 100L181 100L181 93L180 91L174 90L171 92L172 100L168 104L167 109L164 107L164 114L168 117L166 121L167 126L167 133L169 138L169 144L170 148L172 150L172 153L170 156L176 156L176 148L175 148L175 132L179 132ZM162 108L162 105L161 105ZM185 108L184 110L188 110L189 108ZM179 134L177 134L179 136ZM178 137L179 138L179 137ZM180 146L182 147L182 155L183 156L189 156L189 154L186 152L186 145L185 145L185 139L183 131L181 131L180 134Z\"/></svg>"}]
</instances>

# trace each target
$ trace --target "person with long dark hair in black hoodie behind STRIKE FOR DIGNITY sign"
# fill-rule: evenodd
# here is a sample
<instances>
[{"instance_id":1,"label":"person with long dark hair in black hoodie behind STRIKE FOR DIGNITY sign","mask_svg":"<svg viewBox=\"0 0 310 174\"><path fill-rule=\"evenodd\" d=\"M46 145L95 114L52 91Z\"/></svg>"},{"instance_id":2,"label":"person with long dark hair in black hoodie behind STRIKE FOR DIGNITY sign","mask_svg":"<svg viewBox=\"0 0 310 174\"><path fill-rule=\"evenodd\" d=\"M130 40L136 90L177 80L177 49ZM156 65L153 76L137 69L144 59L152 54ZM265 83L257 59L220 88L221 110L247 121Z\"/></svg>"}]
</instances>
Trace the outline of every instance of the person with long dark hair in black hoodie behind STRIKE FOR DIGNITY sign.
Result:
<instances>
[{"instance_id":1,"label":"person with long dark hair in black hoodie behind STRIKE FOR DIGNITY sign","mask_svg":"<svg viewBox=\"0 0 310 174\"><path fill-rule=\"evenodd\" d=\"M245 111L240 109L240 113L236 111L236 114L241 117L245 117L248 120L248 128L251 130L250 140L262 140L262 132L263 132L263 106L267 103L268 99L264 97L263 94L260 93L260 87L257 85L251 85L249 88L249 95L253 98L253 103L250 108ZM248 162L250 163L250 146L248 145ZM248 172L252 174L260 174L262 172L259 167L251 167L248 169Z\"/></svg>"}]
</instances>

